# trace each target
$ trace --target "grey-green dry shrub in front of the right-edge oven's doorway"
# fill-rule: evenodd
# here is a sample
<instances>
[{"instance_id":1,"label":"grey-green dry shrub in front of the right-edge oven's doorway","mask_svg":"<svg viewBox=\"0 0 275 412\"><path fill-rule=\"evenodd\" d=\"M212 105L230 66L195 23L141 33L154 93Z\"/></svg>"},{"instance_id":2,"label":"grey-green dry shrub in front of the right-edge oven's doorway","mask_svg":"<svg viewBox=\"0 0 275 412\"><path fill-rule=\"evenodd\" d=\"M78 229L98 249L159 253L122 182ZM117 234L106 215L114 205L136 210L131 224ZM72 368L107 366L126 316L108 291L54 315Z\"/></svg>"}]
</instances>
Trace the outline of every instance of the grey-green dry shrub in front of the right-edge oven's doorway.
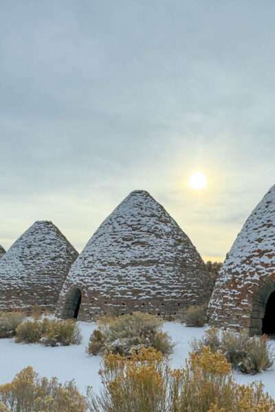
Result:
<instances>
[{"instance_id":1,"label":"grey-green dry shrub in front of the right-edge oven's doorway","mask_svg":"<svg viewBox=\"0 0 275 412\"><path fill-rule=\"evenodd\" d=\"M232 367L245 374L260 373L274 362L274 353L266 335L250 337L245 331L237 333L210 328L201 341L192 342L192 349L197 353L205 346L212 352L223 352Z\"/></svg>"}]
</instances>

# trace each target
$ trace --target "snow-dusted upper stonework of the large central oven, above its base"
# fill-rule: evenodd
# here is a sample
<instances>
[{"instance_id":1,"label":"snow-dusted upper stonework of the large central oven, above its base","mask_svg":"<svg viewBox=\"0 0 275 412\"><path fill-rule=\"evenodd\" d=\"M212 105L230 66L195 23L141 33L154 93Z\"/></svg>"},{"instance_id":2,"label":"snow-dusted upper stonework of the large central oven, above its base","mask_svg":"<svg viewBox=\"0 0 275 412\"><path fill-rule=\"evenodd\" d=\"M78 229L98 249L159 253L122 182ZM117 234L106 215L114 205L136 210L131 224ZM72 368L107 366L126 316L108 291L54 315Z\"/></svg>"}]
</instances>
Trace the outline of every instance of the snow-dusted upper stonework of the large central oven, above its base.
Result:
<instances>
[{"instance_id":1,"label":"snow-dusted upper stonework of the large central oven, above its base","mask_svg":"<svg viewBox=\"0 0 275 412\"><path fill-rule=\"evenodd\" d=\"M131 192L102 222L72 266L61 298L72 285L116 299L133 288L136 299L195 299L210 293L209 275L194 245L142 190Z\"/></svg>"}]
</instances>

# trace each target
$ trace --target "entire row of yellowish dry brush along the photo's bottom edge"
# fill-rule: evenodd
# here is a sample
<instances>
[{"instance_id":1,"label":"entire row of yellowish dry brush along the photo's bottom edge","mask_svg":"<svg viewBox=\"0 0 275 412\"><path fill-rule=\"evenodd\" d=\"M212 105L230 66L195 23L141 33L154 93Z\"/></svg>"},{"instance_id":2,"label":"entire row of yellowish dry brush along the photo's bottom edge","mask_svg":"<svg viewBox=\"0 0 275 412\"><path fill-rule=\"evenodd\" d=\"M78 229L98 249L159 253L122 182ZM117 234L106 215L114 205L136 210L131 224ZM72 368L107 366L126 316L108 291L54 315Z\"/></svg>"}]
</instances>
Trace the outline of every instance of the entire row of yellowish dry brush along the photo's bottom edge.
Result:
<instances>
[{"instance_id":1,"label":"entire row of yellowish dry brush along the photo's bottom edge","mask_svg":"<svg viewBox=\"0 0 275 412\"><path fill-rule=\"evenodd\" d=\"M237 385L231 365L210 347L190 354L186 366L171 369L153 348L132 356L104 356L102 389L87 396L74 382L39 378L32 367L0 386L0 412L274 412L261 383Z\"/></svg>"}]
</instances>

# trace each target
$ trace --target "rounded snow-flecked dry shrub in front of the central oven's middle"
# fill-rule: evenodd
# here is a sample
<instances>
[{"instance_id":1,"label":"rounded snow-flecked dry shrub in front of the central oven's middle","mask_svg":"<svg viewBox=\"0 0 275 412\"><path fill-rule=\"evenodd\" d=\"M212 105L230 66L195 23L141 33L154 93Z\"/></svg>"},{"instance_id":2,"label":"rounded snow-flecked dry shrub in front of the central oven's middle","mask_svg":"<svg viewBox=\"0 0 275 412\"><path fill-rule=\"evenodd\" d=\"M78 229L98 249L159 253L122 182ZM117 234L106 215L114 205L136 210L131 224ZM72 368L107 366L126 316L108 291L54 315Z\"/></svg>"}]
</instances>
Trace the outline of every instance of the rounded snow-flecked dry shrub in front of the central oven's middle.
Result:
<instances>
[{"instance_id":1,"label":"rounded snow-flecked dry shrub in front of the central oven's middle","mask_svg":"<svg viewBox=\"0 0 275 412\"><path fill-rule=\"evenodd\" d=\"M160 330L162 319L151 314L133 312L122 317L103 318L98 322L89 339L89 354L113 352L131 356L132 351L142 347L155 347L162 354L170 354L173 343L166 332Z\"/></svg>"}]
</instances>

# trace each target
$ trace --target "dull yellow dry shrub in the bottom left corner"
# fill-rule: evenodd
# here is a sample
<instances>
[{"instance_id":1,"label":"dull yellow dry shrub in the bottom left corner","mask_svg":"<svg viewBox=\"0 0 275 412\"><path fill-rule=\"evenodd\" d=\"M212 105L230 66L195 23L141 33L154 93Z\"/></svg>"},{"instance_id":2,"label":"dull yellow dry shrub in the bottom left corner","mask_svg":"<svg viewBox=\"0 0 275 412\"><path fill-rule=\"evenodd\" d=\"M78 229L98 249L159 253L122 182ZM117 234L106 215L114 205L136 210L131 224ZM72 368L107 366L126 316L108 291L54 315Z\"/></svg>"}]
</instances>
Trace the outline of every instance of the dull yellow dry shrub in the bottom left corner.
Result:
<instances>
[{"instance_id":1,"label":"dull yellow dry shrub in the bottom left corner","mask_svg":"<svg viewBox=\"0 0 275 412\"><path fill-rule=\"evenodd\" d=\"M86 412L87 403L74 382L39 378L32 367L0 386L0 412Z\"/></svg>"}]
</instances>

